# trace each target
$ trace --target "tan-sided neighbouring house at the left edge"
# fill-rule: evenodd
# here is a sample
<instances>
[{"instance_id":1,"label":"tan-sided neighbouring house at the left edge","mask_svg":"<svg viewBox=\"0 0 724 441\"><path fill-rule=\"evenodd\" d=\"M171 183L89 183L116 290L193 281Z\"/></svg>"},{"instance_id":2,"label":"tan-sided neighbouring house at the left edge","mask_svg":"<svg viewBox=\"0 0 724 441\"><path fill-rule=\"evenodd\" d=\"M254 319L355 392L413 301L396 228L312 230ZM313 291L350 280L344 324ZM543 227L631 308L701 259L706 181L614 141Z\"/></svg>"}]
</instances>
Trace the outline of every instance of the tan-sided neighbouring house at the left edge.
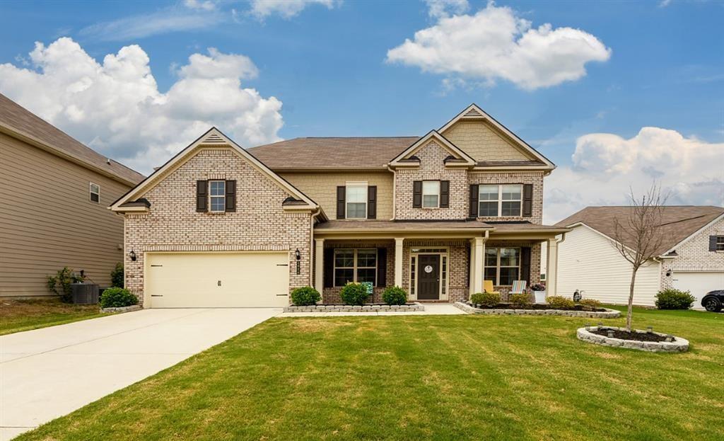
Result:
<instances>
[{"instance_id":1,"label":"tan-sided neighbouring house at the left edge","mask_svg":"<svg viewBox=\"0 0 724 441\"><path fill-rule=\"evenodd\" d=\"M123 219L108 205L143 176L0 94L0 296L49 295L64 266L108 287Z\"/></svg>"}]
</instances>

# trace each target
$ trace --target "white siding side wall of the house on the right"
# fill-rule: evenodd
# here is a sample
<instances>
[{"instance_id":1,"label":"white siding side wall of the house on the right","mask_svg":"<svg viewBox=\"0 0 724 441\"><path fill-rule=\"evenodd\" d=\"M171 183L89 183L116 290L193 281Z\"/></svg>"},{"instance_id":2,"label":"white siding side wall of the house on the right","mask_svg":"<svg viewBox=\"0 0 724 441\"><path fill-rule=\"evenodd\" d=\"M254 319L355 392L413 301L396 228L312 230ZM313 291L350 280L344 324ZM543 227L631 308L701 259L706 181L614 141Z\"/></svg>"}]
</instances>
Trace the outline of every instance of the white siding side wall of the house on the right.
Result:
<instances>
[{"instance_id":1,"label":"white siding side wall of the house on the right","mask_svg":"<svg viewBox=\"0 0 724 441\"><path fill-rule=\"evenodd\" d=\"M659 263L639 268L633 304L653 306L659 283ZM610 239L591 228L573 228L558 245L558 294L571 297L580 289L584 298L626 304L630 284L631 265L618 254Z\"/></svg>"}]
</instances>

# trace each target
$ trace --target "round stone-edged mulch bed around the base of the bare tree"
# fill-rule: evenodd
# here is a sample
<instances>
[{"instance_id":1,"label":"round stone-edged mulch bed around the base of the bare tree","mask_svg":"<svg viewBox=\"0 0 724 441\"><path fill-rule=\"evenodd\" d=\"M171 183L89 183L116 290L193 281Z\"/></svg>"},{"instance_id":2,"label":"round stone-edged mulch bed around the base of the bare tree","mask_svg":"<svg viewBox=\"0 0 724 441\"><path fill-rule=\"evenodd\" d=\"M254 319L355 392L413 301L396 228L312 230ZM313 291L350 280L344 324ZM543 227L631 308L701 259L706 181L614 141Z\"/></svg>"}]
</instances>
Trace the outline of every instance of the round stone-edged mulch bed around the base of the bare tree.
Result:
<instances>
[{"instance_id":1,"label":"round stone-edged mulch bed around the base of the bare tree","mask_svg":"<svg viewBox=\"0 0 724 441\"><path fill-rule=\"evenodd\" d=\"M612 337L608 337L609 331L611 331ZM594 345L627 347L628 349L645 350L653 353L683 353L689 350L689 340L681 337L639 329L633 329L629 332L626 328L613 326L579 328L576 331L576 337Z\"/></svg>"}]
</instances>

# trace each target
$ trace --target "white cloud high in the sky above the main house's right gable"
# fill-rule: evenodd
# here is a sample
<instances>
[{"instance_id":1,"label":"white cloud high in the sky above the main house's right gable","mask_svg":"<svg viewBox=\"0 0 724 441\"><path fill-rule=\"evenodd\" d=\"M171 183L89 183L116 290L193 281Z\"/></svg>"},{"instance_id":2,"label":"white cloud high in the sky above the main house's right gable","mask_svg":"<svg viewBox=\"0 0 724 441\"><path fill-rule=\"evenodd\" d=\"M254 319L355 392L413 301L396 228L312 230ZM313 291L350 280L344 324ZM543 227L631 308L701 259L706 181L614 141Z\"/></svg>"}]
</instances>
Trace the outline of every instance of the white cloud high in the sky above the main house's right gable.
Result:
<instances>
[{"instance_id":1,"label":"white cloud high in the sky above the main house's right gable","mask_svg":"<svg viewBox=\"0 0 724 441\"><path fill-rule=\"evenodd\" d=\"M513 9L490 1L474 15L440 16L437 24L387 51L387 62L488 85L502 79L532 90L578 80L587 62L610 55L590 33L550 23L531 28Z\"/></svg>"}]
</instances>

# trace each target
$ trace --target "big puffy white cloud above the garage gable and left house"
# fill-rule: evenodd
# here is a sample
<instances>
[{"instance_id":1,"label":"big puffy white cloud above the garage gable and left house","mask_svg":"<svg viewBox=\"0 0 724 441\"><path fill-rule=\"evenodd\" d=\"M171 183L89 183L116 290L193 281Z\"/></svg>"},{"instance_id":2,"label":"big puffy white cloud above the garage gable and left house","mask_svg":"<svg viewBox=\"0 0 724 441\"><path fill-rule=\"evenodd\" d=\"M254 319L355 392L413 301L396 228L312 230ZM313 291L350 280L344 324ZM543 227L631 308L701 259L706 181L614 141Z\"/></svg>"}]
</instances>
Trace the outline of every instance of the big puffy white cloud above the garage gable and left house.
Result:
<instances>
[{"instance_id":1,"label":"big puffy white cloud above the garage gable and left house","mask_svg":"<svg viewBox=\"0 0 724 441\"><path fill-rule=\"evenodd\" d=\"M148 173L215 125L243 147L278 141L282 102L241 80L258 70L238 54L193 54L163 93L137 45L90 57L71 38L36 43L32 68L0 65L0 91L98 152Z\"/></svg>"}]
</instances>

